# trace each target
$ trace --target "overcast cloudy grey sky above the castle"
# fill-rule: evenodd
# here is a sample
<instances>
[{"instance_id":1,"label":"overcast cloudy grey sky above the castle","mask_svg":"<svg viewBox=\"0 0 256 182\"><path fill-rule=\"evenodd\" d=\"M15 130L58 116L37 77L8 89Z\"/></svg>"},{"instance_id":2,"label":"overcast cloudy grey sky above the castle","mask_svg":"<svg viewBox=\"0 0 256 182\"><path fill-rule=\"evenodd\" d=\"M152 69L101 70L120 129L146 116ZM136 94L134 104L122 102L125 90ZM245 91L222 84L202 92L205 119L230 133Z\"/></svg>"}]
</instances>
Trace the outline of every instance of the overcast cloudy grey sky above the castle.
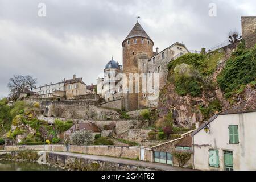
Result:
<instances>
[{"instance_id":1,"label":"overcast cloudy grey sky above the castle","mask_svg":"<svg viewBox=\"0 0 256 182\"><path fill-rule=\"evenodd\" d=\"M46 16L38 16L45 3ZM209 16L209 4L217 16ZM122 41L139 22L162 50L183 42L189 50L212 47L241 16L256 16L256 1L208 0L0 0L0 97L14 74L33 75L38 86L72 78L96 84L111 59L122 63Z\"/></svg>"}]
</instances>

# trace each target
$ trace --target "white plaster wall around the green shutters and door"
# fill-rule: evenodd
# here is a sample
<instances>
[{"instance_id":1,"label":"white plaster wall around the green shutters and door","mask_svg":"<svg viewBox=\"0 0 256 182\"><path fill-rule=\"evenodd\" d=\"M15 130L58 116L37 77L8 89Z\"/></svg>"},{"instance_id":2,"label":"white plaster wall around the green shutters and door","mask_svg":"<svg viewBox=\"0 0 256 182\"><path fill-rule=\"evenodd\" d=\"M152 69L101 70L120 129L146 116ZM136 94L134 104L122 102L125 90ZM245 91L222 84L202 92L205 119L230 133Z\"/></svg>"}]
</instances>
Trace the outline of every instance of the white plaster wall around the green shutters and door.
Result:
<instances>
[{"instance_id":1,"label":"white plaster wall around the green shutters and door","mask_svg":"<svg viewBox=\"0 0 256 182\"><path fill-rule=\"evenodd\" d=\"M238 125L239 144L229 144L229 125ZM209 166L209 149L218 150L220 168ZM224 150L233 151L234 170L256 170L256 112L218 115L210 133L202 129L194 135L195 169L224 170Z\"/></svg>"}]
</instances>

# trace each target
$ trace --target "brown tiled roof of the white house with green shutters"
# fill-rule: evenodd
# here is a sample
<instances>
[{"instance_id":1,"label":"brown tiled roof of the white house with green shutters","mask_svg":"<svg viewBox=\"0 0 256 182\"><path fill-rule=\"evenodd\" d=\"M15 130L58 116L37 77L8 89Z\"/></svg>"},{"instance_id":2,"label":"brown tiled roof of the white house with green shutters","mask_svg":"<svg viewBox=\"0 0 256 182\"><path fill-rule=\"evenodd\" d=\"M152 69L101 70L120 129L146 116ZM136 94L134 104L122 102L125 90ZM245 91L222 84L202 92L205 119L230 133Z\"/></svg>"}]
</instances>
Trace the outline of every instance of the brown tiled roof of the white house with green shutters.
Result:
<instances>
[{"instance_id":1,"label":"brown tiled roof of the white house with green shutters","mask_svg":"<svg viewBox=\"0 0 256 182\"><path fill-rule=\"evenodd\" d=\"M256 90L253 90L250 93L250 96L247 100L242 101L236 105L229 107L228 109L222 110L219 113L213 115L207 123L201 125L196 131L192 133L192 136L197 134L201 129L203 129L208 123L214 121L218 117L218 115L225 115L225 114L238 114L238 113L249 113L249 112L256 112Z\"/></svg>"}]
</instances>

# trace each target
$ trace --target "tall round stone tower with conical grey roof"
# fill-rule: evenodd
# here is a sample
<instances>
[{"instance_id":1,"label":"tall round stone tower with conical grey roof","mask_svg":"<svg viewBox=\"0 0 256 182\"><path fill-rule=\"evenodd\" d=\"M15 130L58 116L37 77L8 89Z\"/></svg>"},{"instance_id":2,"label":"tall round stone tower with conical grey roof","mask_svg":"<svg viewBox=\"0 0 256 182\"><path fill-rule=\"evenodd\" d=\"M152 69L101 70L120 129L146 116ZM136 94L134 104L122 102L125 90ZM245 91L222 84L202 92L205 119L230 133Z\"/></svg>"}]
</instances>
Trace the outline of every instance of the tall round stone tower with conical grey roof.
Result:
<instances>
[{"instance_id":1,"label":"tall round stone tower with conical grey roof","mask_svg":"<svg viewBox=\"0 0 256 182\"><path fill-rule=\"evenodd\" d=\"M138 22L135 24L129 35L122 42L123 47L123 73L127 78L129 73L145 73L142 65L145 65L145 60L153 56L154 42L150 39L147 33ZM143 60L141 59L143 57ZM144 61L142 63L142 61ZM135 85L135 80L133 80ZM138 93L126 93L123 90L126 110L140 109Z\"/></svg>"}]
</instances>

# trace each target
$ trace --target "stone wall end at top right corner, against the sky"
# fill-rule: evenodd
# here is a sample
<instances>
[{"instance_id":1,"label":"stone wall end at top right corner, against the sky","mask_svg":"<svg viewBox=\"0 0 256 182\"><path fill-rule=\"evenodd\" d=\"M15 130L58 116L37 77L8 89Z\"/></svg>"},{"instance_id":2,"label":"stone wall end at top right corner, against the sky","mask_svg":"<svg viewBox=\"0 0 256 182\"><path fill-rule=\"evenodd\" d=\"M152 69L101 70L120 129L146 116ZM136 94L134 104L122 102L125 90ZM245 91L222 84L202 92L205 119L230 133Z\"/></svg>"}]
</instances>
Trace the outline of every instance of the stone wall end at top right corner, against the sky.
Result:
<instances>
[{"instance_id":1,"label":"stone wall end at top right corner, against the sky","mask_svg":"<svg viewBox=\"0 0 256 182\"><path fill-rule=\"evenodd\" d=\"M254 47L256 44L256 16L242 16L242 36L246 47Z\"/></svg>"}]
</instances>

